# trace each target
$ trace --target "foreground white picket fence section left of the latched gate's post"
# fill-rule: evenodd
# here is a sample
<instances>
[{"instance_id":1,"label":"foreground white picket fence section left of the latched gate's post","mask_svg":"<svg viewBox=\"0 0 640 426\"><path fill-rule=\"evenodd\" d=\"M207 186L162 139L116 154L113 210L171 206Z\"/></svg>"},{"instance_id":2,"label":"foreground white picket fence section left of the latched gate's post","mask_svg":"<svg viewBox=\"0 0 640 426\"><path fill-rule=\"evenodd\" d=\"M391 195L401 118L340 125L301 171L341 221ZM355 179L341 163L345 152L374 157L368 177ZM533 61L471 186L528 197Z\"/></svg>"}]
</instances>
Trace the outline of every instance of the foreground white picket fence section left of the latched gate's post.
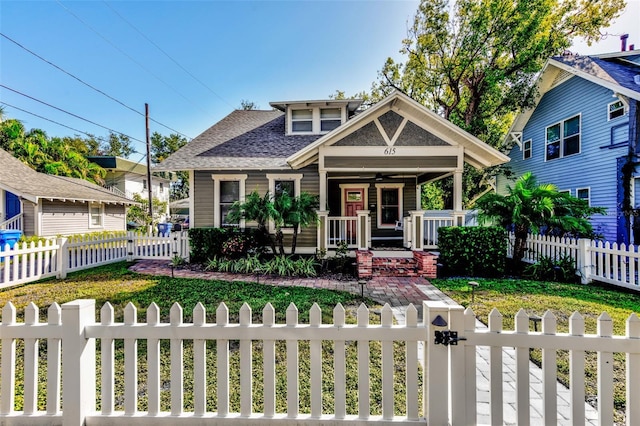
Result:
<instances>
[{"instance_id":1,"label":"foreground white picket fence section left of the latched gate's post","mask_svg":"<svg viewBox=\"0 0 640 426\"><path fill-rule=\"evenodd\" d=\"M214 424L295 423L336 424L350 421L357 424L391 424L392 422L420 423L418 342L427 336L426 326L418 323L417 309L411 305L406 311L406 325L394 325L392 310L386 305L381 312L381 325L369 324L369 310L361 305L357 324L347 324L345 309L338 305L333 311L333 324L322 324L318 305L309 312L309 324L300 324L298 310L291 304L286 323L275 323L275 311L268 304L263 310L263 323L253 324L251 308L243 305L239 323L229 323L229 311L221 304L216 310L216 322L206 320L206 311L198 303L193 310L193 323L183 322L182 307L174 304L169 322L160 322L160 311L153 303L147 309L147 322L136 321L137 311L129 304L124 310L124 323L114 322L114 311L107 303L96 322L95 301L76 300L49 308L49 323L39 324L39 310L31 304L26 308L24 323L16 321L16 309L9 303L2 310L0 338L2 341L2 396L0 423L31 425L62 424ZM97 365L96 340L100 340L100 362ZM24 387L16 388L16 341L24 343ZM47 350L39 351L38 341L47 342ZM162 340L169 340L169 353L161 349ZM239 341L239 386L230 386L230 341ZM115 342L124 347L124 360L116 356ZM215 342L215 349L212 345ZM254 343L259 343L258 346ZM278 344L276 345L276 342ZM309 346L303 358L301 343ZM308 343L307 343L308 342ZM371 342L379 342L381 356L370 349ZM394 343L405 345L399 358L394 355ZM138 344L147 348L146 386L139 385ZM189 365L183 354L185 345L192 345L193 357ZM323 345L333 348L331 364L323 363ZM119 345L118 345L119 346ZM277 348L286 351L286 389L276 387ZM252 355L262 348L263 363L256 365ZM357 351L357 365L347 365L347 351ZM401 351L400 349L396 349ZM171 360L165 374L160 354ZM212 360L215 358L215 360ZM398 359L396 359L398 358ZM38 386L38 360L46 359L47 384ZM191 365L192 361L192 365ZM301 377L300 364L310 365L309 379ZM381 400L372 397L369 371L372 364L381 371ZM394 387L397 363L406 368L406 397L398 404ZM357 378L348 373L357 369ZM211 373L215 371L215 380ZM118 371L119 373L116 373ZM329 371L329 372L328 372ZM281 373L279 373L281 374ZM323 397L323 374L334 377L332 404ZM96 395L96 378L101 377ZM124 389L116 386L124 383ZM254 377L263 377L254 384ZM192 379L188 379L192 377ZM192 383L187 383L192 380ZM357 381L357 413L348 412L349 389ZM165 384L166 383L166 384ZM263 388L263 412L254 412L254 388ZM300 388L308 387L310 413L300 413ZM185 398L186 387L192 397ZM215 411L207 400L207 388L217 397ZM24 389L23 411L16 411L16 392ZM61 395L60 389L63 389ZM209 391L210 392L210 391ZM161 394L170 396L170 403L162 403ZM96 396L100 409L96 407ZM276 405L277 396L286 399L286 406ZM145 397L145 411L140 410L138 398ZM240 401L240 409L233 412L231 400ZM42 402L39 402L42 401ZM46 401L46 403L44 403ZM116 401L120 401L116 403ZM166 401L166 399L165 399ZM185 403L193 407L185 410ZM119 406L117 406L118 404ZM118 411L116 411L116 408ZM372 410L381 412L373 415ZM403 412L404 414L397 414Z\"/></svg>"}]
</instances>

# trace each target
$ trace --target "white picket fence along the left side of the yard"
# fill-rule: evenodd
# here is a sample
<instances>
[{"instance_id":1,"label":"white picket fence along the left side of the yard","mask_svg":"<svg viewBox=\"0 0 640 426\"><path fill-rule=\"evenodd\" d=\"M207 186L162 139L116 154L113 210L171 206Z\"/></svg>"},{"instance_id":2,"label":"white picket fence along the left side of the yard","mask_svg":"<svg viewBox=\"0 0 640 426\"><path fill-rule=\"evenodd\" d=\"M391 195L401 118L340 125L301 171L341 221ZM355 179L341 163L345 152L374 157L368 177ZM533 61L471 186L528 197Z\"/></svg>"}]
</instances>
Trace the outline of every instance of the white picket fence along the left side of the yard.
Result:
<instances>
[{"instance_id":1,"label":"white picket fence along the left side of the yard","mask_svg":"<svg viewBox=\"0 0 640 426\"><path fill-rule=\"evenodd\" d=\"M0 252L0 288L49 277L64 278L67 273L108 263L134 259L189 257L186 231L169 235L128 232L120 236L89 235L86 238L56 238L8 244Z\"/></svg>"}]
</instances>

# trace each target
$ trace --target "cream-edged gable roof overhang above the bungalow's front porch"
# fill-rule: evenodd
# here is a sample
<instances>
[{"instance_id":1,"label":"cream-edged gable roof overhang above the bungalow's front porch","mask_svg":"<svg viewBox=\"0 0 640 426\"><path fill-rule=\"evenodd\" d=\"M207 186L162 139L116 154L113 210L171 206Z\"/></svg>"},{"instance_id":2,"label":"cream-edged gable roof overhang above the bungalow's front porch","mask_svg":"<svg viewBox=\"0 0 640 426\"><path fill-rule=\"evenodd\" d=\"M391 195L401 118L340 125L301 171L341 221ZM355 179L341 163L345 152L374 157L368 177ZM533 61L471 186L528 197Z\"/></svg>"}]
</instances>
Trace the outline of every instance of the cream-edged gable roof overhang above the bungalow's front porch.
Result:
<instances>
[{"instance_id":1,"label":"cream-edged gable roof overhang above the bungalow's front porch","mask_svg":"<svg viewBox=\"0 0 640 426\"><path fill-rule=\"evenodd\" d=\"M315 161L318 156L320 146L332 145L354 130L362 127L364 123L369 122L382 111L389 109L402 110L406 114L415 117L414 124L423 126L430 133L450 145L462 146L464 148L465 161L474 167L481 168L495 166L509 161L509 157L502 154L497 149L487 145L450 121L445 120L443 117L411 99L404 93L394 90L389 96L371 108L358 114L355 118L347 121L342 126L327 133L314 143L291 155L287 159L287 162L291 167L299 168Z\"/></svg>"}]
</instances>

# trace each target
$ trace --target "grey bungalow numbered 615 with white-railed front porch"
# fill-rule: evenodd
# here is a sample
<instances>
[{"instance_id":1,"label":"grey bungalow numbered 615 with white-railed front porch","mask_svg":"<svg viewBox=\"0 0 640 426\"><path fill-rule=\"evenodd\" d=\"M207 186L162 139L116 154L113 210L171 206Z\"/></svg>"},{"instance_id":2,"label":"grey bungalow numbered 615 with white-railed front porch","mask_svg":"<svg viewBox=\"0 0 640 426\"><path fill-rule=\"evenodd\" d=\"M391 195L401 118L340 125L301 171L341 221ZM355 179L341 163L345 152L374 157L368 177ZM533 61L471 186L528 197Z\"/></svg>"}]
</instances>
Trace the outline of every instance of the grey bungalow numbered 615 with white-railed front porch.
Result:
<instances>
[{"instance_id":1,"label":"grey bungalow numbered 615 with white-railed front porch","mask_svg":"<svg viewBox=\"0 0 640 426\"><path fill-rule=\"evenodd\" d=\"M430 246L421 185L453 176L453 210L462 225L464 163L484 168L509 158L409 96L394 91L374 106L361 100L271 102L270 111L236 110L154 170L188 170L191 227L231 224L234 201L286 188L319 196L320 221L302 229L297 252L341 241L367 250L398 242ZM289 230L289 232L292 232Z\"/></svg>"}]
</instances>

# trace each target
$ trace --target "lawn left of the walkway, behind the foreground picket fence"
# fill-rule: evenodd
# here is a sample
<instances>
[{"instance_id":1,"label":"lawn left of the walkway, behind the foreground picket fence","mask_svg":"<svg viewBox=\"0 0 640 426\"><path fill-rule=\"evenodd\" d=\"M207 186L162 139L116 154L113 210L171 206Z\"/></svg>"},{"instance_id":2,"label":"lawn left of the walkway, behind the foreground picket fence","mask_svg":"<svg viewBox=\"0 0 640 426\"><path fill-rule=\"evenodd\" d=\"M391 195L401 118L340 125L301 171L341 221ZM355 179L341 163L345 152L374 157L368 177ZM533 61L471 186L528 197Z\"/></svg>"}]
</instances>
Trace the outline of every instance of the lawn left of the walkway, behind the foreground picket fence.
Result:
<instances>
[{"instance_id":1,"label":"lawn left of the walkway, behind the foreground picket fence","mask_svg":"<svg viewBox=\"0 0 640 426\"><path fill-rule=\"evenodd\" d=\"M201 279L179 279L162 276L142 275L131 272L127 269L125 262L111 264L95 269L70 274L64 280L45 280L38 283L28 284L12 289L0 291L0 307L11 301L17 309L18 321L24 317L24 308L34 302L40 308L40 321L46 321L46 308L53 302L59 304L78 299L96 300L96 319L99 319L100 307L110 302L114 307L116 322L123 321L124 307L132 302L137 307L139 322L146 322L146 308L155 302L160 307L161 321L169 321L169 310L173 303L179 303L184 309L184 322L192 321L192 310L196 303L205 305L207 312L207 322L215 322L215 311L221 302L229 308L230 323L238 322L238 312L244 302L252 308L253 321L262 321L262 309L267 303L271 303L276 311L276 322L285 322L286 309L290 303L295 303L299 311L299 322L305 323L309 319L309 309L313 303L318 303L322 310L322 321L324 323L333 322L333 308L337 303L341 303L347 311L347 322L355 323L355 311L361 303L358 296L331 290L310 289L305 287L276 287L247 282L228 282L220 280ZM380 306L371 300L365 303L371 310L370 323L380 323ZM255 412L263 411L263 377L262 377L262 342L253 342L253 408ZM99 344L98 344L99 363ZM207 369L207 410L217 409L216 388L216 342L208 342L208 366ZM381 414L381 389L382 373L379 361L381 358L380 342L370 342L370 372L371 372L371 414ZM230 410L238 412L240 410L239 393L234 392L240 388L240 357L239 341L230 341L230 375L229 389ZM16 409L20 410L23 403L23 366L22 351L23 343L18 341L16 366ZM311 410L310 400L310 366L309 366L309 342L300 342L300 412L309 413ZM277 342L276 347L276 409L278 412L286 412L286 350L284 342ZM323 342L323 412L333 412L333 344ZM169 363L169 342L161 342L161 408L170 410L170 363ZM346 368L347 368L347 413L357 414L357 342L346 343ZM395 409L397 415L405 412L405 353L404 345L396 343L395 354L396 370L395 381ZM184 409L193 410L193 347L190 341L184 344ZM116 410L124 408L124 351L123 342L116 341L116 379L115 397ZM147 407L146 380L147 380L147 360L146 342L138 343L138 409L145 411ZM99 370L98 370L99 371ZM40 342L39 360L39 409L45 409L45 385L46 385L46 342ZM96 381L98 391L100 390L100 377ZM419 392L421 395L422 392ZM99 406L99 399L98 399Z\"/></svg>"}]
</instances>

